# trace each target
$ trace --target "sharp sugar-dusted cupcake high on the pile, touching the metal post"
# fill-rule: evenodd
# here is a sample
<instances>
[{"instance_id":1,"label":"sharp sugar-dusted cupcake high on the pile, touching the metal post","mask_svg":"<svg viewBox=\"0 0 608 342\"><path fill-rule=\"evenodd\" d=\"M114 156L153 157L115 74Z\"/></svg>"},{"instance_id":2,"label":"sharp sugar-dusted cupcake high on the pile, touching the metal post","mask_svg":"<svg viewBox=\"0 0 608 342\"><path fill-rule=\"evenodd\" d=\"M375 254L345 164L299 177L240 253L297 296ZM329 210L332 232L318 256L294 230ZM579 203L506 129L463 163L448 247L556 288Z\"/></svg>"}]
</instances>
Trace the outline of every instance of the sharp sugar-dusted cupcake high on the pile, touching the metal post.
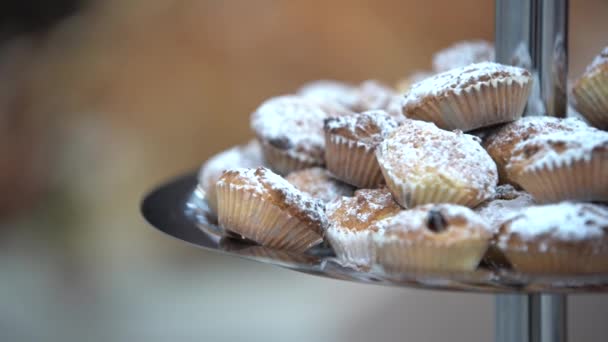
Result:
<instances>
[{"instance_id":1,"label":"sharp sugar-dusted cupcake high on the pile, touching the metal post","mask_svg":"<svg viewBox=\"0 0 608 342\"><path fill-rule=\"evenodd\" d=\"M520 118L531 86L525 69L471 64L414 84L405 95L403 113L443 129L471 131Z\"/></svg>"}]
</instances>

